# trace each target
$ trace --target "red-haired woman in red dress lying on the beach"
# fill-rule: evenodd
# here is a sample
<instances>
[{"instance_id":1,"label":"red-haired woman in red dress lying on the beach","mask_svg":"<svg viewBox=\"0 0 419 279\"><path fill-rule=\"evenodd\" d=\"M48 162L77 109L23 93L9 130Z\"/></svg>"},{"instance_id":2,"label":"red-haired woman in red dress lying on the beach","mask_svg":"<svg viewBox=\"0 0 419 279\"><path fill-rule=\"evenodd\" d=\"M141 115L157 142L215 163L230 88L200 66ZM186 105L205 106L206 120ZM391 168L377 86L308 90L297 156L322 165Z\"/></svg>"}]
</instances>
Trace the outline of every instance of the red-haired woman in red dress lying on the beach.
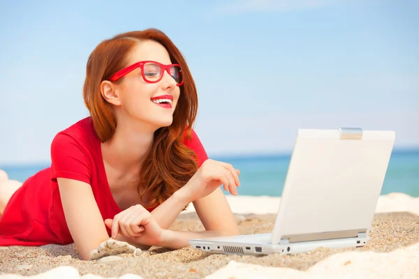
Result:
<instances>
[{"instance_id":1,"label":"red-haired woman in red dress lying on the beach","mask_svg":"<svg viewBox=\"0 0 419 279\"><path fill-rule=\"evenodd\" d=\"M0 246L74 242L89 259L111 235L176 249L238 234L219 186L237 195L240 172L207 158L191 128L196 86L164 33L104 40L87 61L83 93L90 116L54 137L51 167L21 187L0 174ZM190 202L206 231L169 230Z\"/></svg>"}]
</instances>

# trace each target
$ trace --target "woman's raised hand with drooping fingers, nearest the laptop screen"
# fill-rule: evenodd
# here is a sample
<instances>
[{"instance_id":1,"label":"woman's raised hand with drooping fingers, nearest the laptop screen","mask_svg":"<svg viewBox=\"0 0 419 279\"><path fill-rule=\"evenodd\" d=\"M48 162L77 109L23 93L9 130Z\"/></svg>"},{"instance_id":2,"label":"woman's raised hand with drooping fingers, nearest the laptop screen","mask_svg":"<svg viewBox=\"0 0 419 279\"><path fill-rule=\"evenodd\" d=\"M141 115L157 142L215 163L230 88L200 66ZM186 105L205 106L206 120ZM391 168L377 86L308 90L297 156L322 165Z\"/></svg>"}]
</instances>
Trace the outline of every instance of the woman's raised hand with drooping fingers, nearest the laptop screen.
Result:
<instances>
[{"instance_id":1,"label":"woman's raised hand with drooping fingers, nearest the laptop screen","mask_svg":"<svg viewBox=\"0 0 419 279\"><path fill-rule=\"evenodd\" d=\"M208 159L182 190L186 191L190 202L210 195L221 185L224 190L230 191L231 195L237 195L236 188L240 187L239 175L240 170L234 169L233 165Z\"/></svg>"}]
</instances>

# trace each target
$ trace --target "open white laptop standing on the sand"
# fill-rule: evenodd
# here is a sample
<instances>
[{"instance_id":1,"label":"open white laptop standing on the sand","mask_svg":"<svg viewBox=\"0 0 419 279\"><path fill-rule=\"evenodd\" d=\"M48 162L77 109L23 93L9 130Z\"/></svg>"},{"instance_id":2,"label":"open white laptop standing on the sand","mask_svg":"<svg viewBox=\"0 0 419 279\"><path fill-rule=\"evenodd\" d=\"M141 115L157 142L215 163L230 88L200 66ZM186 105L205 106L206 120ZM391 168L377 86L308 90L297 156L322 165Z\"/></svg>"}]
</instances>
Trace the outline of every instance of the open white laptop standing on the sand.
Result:
<instances>
[{"instance_id":1,"label":"open white laptop standing on the sand","mask_svg":"<svg viewBox=\"0 0 419 279\"><path fill-rule=\"evenodd\" d=\"M394 142L394 131L300 129L272 232L189 244L237 255L365 246Z\"/></svg>"}]
</instances>

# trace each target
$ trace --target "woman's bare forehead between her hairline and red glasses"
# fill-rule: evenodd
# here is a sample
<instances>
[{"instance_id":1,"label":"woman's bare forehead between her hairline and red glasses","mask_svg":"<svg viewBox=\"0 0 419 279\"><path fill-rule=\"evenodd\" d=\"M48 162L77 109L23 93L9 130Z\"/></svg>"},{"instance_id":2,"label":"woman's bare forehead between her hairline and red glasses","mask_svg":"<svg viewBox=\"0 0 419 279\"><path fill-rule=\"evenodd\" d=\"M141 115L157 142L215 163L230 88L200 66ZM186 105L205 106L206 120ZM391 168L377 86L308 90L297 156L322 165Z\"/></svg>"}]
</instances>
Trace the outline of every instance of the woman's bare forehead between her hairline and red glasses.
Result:
<instances>
[{"instance_id":1,"label":"woman's bare forehead between her hairline and red glasses","mask_svg":"<svg viewBox=\"0 0 419 279\"><path fill-rule=\"evenodd\" d=\"M138 43L128 56L130 63L152 60L163 64L170 64L169 52L161 43L154 40L144 40Z\"/></svg>"}]
</instances>

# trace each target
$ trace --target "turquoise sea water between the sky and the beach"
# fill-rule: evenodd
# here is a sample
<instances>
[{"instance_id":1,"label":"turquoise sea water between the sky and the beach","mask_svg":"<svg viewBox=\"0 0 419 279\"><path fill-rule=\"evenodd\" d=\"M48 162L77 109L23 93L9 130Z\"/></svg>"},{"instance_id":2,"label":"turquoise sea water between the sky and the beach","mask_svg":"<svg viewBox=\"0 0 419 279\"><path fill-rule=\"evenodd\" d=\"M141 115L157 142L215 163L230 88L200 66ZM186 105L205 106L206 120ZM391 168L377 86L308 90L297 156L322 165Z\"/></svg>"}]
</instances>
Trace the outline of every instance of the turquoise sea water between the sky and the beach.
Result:
<instances>
[{"instance_id":1,"label":"turquoise sea water between the sky and the beach","mask_svg":"<svg viewBox=\"0 0 419 279\"><path fill-rule=\"evenodd\" d=\"M240 169L239 195L280 196L284 187L290 155L223 157L214 158L232 163ZM0 169L8 172L10 179L24 181L49 164L38 165L0 165ZM382 195L401 192L419 197L419 149L393 151L385 176Z\"/></svg>"}]
</instances>

